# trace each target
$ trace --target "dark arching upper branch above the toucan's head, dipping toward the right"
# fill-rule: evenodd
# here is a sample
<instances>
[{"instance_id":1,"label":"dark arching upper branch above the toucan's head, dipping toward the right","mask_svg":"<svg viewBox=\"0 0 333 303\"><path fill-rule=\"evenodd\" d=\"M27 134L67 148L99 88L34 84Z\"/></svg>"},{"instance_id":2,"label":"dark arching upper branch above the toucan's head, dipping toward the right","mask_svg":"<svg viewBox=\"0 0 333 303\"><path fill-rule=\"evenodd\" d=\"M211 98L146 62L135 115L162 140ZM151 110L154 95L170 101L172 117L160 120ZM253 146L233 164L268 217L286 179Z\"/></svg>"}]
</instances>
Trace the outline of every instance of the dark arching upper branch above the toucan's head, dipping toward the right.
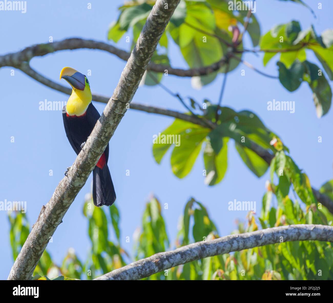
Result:
<instances>
[{"instance_id":1,"label":"dark arching upper branch above the toucan's head, dipping toward the right","mask_svg":"<svg viewBox=\"0 0 333 303\"><path fill-rule=\"evenodd\" d=\"M127 61L130 57L130 53L125 50L118 49L110 44L94 41L94 40L86 40L80 38L69 38L62 41L56 41L52 43L41 43L33 46L26 47L25 49L16 52L9 53L3 56L0 56L0 67L4 66L12 66L16 68L20 68L22 62L29 62L33 57L37 56L45 56L47 54L60 51L60 50L73 50L73 49L99 49L107 51L111 54L118 56L119 58ZM203 76L208 75L214 71L219 70L226 62L226 59L223 57L221 60L213 63L212 65L192 68L192 69L180 69L180 68L172 68L168 65L149 63L147 69L155 72L165 73L166 70L168 74L176 75L179 77L194 77L194 76Z\"/></svg>"}]
</instances>

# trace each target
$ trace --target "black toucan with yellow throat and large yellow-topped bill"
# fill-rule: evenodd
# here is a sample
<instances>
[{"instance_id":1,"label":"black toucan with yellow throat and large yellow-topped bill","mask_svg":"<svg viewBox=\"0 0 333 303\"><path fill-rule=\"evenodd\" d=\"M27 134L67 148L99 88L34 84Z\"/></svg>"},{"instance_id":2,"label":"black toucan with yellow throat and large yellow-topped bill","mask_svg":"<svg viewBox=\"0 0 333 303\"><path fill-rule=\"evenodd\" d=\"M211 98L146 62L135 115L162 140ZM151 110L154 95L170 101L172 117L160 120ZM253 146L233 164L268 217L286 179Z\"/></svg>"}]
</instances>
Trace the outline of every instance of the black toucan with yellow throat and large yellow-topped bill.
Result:
<instances>
[{"instance_id":1,"label":"black toucan with yellow throat and large yellow-topped bill","mask_svg":"<svg viewBox=\"0 0 333 303\"><path fill-rule=\"evenodd\" d=\"M63 108L62 115L67 138L75 153L79 155L100 114L91 102L90 84L84 74L74 68L64 67L60 72L60 79L65 79L72 86L72 94ZM96 206L110 206L116 200L108 159L109 144L93 171L93 201Z\"/></svg>"}]
</instances>

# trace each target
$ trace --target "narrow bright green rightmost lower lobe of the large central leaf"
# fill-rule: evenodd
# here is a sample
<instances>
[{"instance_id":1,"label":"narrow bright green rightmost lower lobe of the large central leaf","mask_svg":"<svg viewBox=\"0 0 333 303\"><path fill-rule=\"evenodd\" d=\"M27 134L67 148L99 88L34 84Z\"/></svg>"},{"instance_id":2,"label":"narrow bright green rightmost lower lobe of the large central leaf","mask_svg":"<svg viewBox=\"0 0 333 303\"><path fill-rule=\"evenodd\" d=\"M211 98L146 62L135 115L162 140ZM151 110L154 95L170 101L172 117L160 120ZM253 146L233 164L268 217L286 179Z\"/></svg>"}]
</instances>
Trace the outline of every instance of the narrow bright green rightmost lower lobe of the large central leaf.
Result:
<instances>
[{"instance_id":1,"label":"narrow bright green rightmost lower lobe of the large central leaf","mask_svg":"<svg viewBox=\"0 0 333 303\"><path fill-rule=\"evenodd\" d=\"M268 169L268 164L265 160L259 157L251 149L242 146L235 142L235 146L239 156L244 161L245 165L257 176L261 177Z\"/></svg>"}]
</instances>

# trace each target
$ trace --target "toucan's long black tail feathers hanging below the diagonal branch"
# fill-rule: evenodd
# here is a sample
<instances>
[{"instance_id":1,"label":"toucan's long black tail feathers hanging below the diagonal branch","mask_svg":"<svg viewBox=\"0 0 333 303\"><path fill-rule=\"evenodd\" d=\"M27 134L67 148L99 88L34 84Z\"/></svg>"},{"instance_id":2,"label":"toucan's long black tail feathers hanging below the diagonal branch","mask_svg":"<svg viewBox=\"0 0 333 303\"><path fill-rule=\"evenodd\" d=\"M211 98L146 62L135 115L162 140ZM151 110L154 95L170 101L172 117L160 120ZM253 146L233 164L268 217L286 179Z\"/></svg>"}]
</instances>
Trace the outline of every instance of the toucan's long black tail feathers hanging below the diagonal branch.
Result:
<instances>
[{"instance_id":1,"label":"toucan's long black tail feathers hanging below the diagonal branch","mask_svg":"<svg viewBox=\"0 0 333 303\"><path fill-rule=\"evenodd\" d=\"M93 171L93 200L96 206L112 205L116 200L115 188L107 164Z\"/></svg>"}]
</instances>

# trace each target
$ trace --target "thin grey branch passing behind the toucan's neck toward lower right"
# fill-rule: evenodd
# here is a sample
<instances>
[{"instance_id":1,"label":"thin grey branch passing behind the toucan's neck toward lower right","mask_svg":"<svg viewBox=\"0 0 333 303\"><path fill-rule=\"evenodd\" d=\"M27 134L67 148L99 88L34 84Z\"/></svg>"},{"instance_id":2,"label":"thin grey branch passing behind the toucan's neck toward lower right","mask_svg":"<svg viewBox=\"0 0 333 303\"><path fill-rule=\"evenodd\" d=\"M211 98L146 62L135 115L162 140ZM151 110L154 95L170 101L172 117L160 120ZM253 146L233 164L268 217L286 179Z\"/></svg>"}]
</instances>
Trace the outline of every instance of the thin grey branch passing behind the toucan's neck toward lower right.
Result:
<instances>
[{"instance_id":1,"label":"thin grey branch passing behind the toucan's neck toward lower right","mask_svg":"<svg viewBox=\"0 0 333 303\"><path fill-rule=\"evenodd\" d=\"M27 62L23 62L21 66L19 67L23 72L25 72L30 77L34 78L35 80L43 83L46 86L49 86L53 89L59 90L61 92L64 92L65 94L71 94L72 90L70 88L67 88L63 85L60 85L56 82L53 82L50 79L47 79L43 75L37 73L35 70L33 70ZM93 100L98 102L107 103L109 101L108 97L93 94ZM201 125L203 127L207 127L207 120L203 120L202 118L199 118L194 115L187 115L184 113L180 113L174 110L164 109L160 107L155 106L148 106L138 103L131 103L130 105L131 109L141 110L149 113L155 113L155 114L161 114L165 116L174 117L177 119L181 119L184 121L192 122L194 124ZM214 123L208 123L209 128L213 129L216 127L216 124ZM270 165L272 159L274 158L274 155L271 154L268 150L262 148L261 146L255 144L254 142L251 142L251 149L263 160L266 161L268 165ZM320 202L322 205L324 205L330 213L333 214L333 201L326 195L320 193L318 190L312 188L312 192L314 196L316 197L317 201Z\"/></svg>"}]
</instances>

